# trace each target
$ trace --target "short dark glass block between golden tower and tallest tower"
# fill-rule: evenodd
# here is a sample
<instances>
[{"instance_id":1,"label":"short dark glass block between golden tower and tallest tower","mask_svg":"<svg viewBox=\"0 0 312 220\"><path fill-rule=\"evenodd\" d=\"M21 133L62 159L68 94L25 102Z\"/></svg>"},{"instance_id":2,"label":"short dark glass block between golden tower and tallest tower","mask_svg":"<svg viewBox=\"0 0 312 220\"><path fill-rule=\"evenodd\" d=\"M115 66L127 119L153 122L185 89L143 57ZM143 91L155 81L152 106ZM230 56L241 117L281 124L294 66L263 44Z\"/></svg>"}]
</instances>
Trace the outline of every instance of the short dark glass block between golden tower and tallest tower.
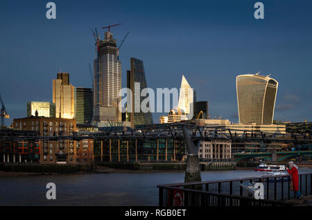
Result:
<instances>
[{"instance_id":1,"label":"short dark glass block between golden tower and tallest tower","mask_svg":"<svg viewBox=\"0 0 312 220\"><path fill-rule=\"evenodd\" d=\"M93 116L92 89L75 87L75 119L77 124L91 123Z\"/></svg>"}]
</instances>

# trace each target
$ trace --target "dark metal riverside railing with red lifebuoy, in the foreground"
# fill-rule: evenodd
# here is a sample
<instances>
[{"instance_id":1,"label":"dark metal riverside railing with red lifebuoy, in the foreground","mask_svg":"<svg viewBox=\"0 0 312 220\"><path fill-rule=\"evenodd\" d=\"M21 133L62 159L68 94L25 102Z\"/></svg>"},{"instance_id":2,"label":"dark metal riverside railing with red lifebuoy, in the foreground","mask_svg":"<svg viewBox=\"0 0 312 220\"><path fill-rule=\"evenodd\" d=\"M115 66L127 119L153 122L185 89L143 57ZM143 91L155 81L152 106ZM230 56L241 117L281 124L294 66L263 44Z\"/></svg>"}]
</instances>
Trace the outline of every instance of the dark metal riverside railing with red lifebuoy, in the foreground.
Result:
<instances>
[{"instance_id":1,"label":"dark metal riverside railing with red lifebuoy, in the foreground","mask_svg":"<svg viewBox=\"0 0 312 220\"><path fill-rule=\"evenodd\" d=\"M241 183L263 183L264 199L255 199L241 187ZM236 178L196 183L158 185L160 206L241 206L241 205L291 205L286 203L294 197L291 176L266 176L265 178ZM299 174L299 190L311 194L312 172Z\"/></svg>"}]
</instances>

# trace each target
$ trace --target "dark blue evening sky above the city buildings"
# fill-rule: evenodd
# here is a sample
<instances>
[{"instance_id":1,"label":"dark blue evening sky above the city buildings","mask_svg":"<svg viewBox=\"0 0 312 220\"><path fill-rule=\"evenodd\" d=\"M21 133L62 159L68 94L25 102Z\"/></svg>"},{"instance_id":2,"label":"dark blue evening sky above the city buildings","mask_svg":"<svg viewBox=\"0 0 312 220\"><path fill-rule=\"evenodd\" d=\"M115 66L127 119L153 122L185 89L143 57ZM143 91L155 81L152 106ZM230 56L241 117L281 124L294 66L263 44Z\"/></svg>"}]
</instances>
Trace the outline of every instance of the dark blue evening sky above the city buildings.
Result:
<instances>
[{"instance_id":1,"label":"dark blue evening sky above the city buildings","mask_svg":"<svg viewBox=\"0 0 312 220\"><path fill-rule=\"evenodd\" d=\"M26 117L26 101L52 101L60 67L89 87L92 28L122 23L111 31L118 43L130 31L123 87L130 57L139 58L148 87L180 87L184 74L212 117L237 122L236 75L261 71L279 81L275 119L312 121L312 1L261 1L258 20L250 0L53 1L55 20L46 19L47 2L0 3L0 94L11 118Z\"/></svg>"}]
</instances>

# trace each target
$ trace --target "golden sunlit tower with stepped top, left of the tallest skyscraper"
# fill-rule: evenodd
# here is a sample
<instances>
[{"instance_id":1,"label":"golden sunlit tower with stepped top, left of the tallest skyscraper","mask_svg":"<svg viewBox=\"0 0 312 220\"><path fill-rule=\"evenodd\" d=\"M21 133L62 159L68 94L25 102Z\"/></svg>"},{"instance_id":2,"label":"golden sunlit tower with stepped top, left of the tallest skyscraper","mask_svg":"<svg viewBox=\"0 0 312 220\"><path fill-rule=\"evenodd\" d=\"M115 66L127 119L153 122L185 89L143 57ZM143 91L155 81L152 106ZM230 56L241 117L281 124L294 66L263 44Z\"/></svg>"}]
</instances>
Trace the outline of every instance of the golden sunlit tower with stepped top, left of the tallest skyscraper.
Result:
<instances>
[{"instance_id":1,"label":"golden sunlit tower with stepped top, left of the tallest skyscraper","mask_svg":"<svg viewBox=\"0 0 312 220\"><path fill-rule=\"evenodd\" d=\"M57 79L53 79L53 103L55 103L55 117L73 119L73 89L73 85L69 83L68 73L58 73Z\"/></svg>"}]
</instances>

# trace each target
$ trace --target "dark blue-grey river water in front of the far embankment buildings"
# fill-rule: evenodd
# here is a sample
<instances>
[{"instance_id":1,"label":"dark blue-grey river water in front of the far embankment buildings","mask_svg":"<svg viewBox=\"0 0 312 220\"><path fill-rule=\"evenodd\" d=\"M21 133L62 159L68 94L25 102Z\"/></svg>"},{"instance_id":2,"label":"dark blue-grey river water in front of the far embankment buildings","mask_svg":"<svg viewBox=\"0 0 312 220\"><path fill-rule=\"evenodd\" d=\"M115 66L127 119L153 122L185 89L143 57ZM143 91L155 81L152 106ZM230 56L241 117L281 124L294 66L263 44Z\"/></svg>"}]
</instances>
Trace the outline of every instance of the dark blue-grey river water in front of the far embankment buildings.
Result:
<instances>
[{"instance_id":1,"label":"dark blue-grey river water in front of the far embankment buildings","mask_svg":"<svg viewBox=\"0 0 312 220\"><path fill-rule=\"evenodd\" d=\"M300 172L312 171L302 169ZM202 171L202 180L259 176L257 171ZM184 172L0 178L0 205L158 205L156 185L183 183ZM56 200L46 199L55 183Z\"/></svg>"}]
</instances>

